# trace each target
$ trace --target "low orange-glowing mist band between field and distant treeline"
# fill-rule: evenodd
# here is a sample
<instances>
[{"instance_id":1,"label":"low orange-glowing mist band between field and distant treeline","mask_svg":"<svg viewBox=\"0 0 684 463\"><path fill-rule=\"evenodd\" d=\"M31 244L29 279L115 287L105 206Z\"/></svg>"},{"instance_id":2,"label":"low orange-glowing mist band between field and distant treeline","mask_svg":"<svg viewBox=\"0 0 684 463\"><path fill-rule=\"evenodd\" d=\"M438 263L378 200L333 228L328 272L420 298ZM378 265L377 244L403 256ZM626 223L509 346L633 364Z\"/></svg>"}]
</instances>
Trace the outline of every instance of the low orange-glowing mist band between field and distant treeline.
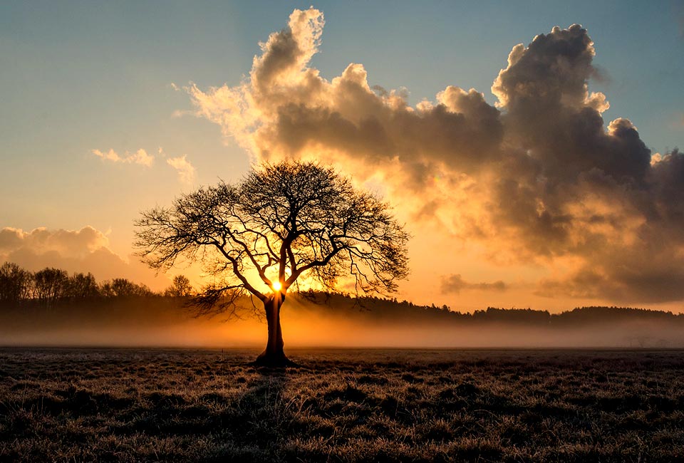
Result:
<instances>
[{"instance_id":1,"label":"low orange-glowing mist band between field and distant treeline","mask_svg":"<svg viewBox=\"0 0 684 463\"><path fill-rule=\"evenodd\" d=\"M50 309L22 307L0 313L0 345L263 348L266 323L258 310L243 305L239 317L230 320L222 315L194 318L192 311L172 298L131 298ZM584 316L563 323L561 314L559 321L540 323L495 321L491 316L473 317L387 300L359 306L343 296L323 303L290 297L283 306L281 323L286 350L684 347L682 317L656 311L638 316L624 311L616 309L607 318Z\"/></svg>"}]
</instances>

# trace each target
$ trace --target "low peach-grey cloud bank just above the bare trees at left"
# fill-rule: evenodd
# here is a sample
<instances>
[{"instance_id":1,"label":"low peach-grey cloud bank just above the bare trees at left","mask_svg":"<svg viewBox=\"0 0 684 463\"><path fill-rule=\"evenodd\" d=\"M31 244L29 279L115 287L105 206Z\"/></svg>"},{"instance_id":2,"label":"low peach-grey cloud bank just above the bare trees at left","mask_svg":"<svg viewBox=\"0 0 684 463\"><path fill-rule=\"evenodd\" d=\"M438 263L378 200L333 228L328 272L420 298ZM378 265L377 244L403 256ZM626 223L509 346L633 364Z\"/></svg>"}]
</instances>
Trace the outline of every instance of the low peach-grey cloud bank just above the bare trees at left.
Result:
<instances>
[{"instance_id":1,"label":"low peach-grey cloud bank just above the bare trees at left","mask_svg":"<svg viewBox=\"0 0 684 463\"><path fill-rule=\"evenodd\" d=\"M123 277L157 289L167 286L167 279L155 279L154 273L137 259L123 259L108 246L107 236L90 226L80 230L0 229L0 262L14 262L30 271L49 266L69 272L92 272L100 281Z\"/></svg>"}]
</instances>

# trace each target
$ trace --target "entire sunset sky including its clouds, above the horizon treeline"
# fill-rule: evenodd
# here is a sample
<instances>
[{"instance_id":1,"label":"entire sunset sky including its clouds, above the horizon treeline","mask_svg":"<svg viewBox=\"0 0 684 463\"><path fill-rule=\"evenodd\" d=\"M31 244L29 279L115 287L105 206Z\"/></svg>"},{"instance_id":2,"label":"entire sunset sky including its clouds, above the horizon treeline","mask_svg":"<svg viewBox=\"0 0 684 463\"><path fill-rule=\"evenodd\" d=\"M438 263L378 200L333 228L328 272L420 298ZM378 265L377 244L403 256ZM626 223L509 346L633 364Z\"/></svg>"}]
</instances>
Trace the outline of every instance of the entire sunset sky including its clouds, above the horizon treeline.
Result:
<instances>
[{"instance_id":1,"label":"entire sunset sky including its clouds, above the horizon treeline","mask_svg":"<svg viewBox=\"0 0 684 463\"><path fill-rule=\"evenodd\" d=\"M683 75L682 1L2 2L0 260L164 288L142 210L313 158L413 235L400 299L684 311Z\"/></svg>"}]
</instances>

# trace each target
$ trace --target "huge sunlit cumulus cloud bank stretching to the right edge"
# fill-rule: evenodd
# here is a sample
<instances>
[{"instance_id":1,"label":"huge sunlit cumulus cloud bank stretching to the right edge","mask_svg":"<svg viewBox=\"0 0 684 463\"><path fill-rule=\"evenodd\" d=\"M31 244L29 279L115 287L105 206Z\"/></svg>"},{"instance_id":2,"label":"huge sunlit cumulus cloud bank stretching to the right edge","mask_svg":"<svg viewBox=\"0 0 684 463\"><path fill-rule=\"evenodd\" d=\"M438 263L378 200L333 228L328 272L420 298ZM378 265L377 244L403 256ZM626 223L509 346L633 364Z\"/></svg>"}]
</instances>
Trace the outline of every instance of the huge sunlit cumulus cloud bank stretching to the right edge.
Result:
<instances>
[{"instance_id":1,"label":"huge sunlit cumulus cloud bank stretching to the right edge","mask_svg":"<svg viewBox=\"0 0 684 463\"><path fill-rule=\"evenodd\" d=\"M556 26L514 46L495 105L450 85L413 107L406 90L370 85L361 63L320 76L310 61L323 26L320 11L295 10L242 83L186 88L196 114L254 160L332 162L383 184L414 219L486 244L489 257L548 266L559 276L540 293L684 298L667 289L684 287L674 271L684 268L684 155L654 157L630 120L603 120L609 103L590 89L601 73L585 28Z\"/></svg>"}]
</instances>

